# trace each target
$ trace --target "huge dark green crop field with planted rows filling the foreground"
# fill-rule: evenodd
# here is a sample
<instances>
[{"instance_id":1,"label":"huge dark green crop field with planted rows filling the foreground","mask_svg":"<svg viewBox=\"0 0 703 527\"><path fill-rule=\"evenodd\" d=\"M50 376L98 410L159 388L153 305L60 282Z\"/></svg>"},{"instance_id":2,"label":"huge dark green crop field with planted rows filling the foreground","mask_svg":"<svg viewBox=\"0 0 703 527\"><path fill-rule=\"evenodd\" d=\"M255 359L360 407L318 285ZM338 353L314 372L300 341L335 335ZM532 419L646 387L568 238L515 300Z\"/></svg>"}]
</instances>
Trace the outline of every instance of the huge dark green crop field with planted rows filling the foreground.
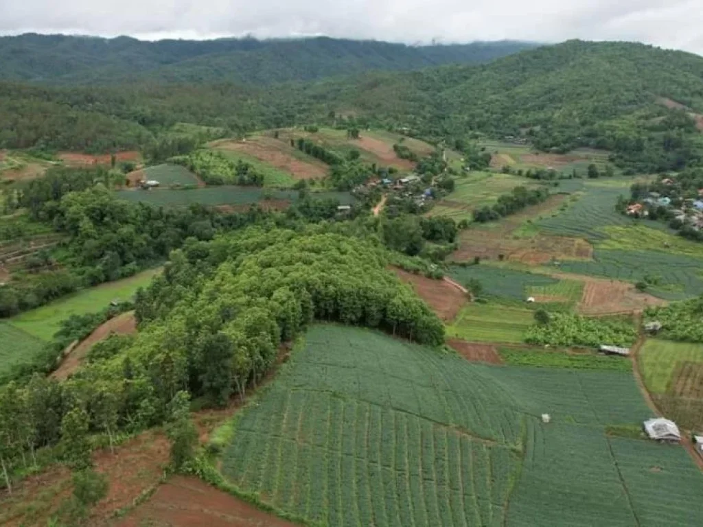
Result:
<instances>
[{"instance_id":1,"label":"huge dark green crop field with planted rows filling the foreground","mask_svg":"<svg viewBox=\"0 0 703 527\"><path fill-rule=\"evenodd\" d=\"M703 475L685 450L605 434L649 415L628 372L480 365L318 325L234 418L221 471L333 527L694 525Z\"/></svg>"}]
</instances>

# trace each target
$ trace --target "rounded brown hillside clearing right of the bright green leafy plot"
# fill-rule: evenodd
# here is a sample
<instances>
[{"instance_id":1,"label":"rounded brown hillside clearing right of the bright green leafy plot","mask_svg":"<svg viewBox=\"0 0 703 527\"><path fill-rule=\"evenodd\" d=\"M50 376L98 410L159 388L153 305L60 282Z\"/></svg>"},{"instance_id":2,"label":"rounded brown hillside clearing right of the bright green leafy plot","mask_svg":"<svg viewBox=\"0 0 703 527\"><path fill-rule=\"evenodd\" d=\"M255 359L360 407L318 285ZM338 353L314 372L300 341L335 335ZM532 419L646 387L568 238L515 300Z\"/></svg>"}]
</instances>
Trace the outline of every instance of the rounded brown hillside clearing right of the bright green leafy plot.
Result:
<instances>
[{"instance_id":1,"label":"rounded brown hillside clearing right of the bright green leafy plot","mask_svg":"<svg viewBox=\"0 0 703 527\"><path fill-rule=\"evenodd\" d=\"M266 136L254 136L247 138L244 141L235 141L231 139L221 139L209 144L210 148L221 150L224 152L238 152L243 154L241 159L245 162L258 162L269 167L269 170L264 172L264 181L268 175L269 181L282 180L282 174L274 174L271 167L278 172L288 176L288 179L320 179L327 175L329 167L316 160L314 157L300 152L297 148L290 145L290 141L276 139ZM261 169L257 164L254 164L254 169ZM274 177L277 176L277 177ZM266 182L269 185L273 183ZM280 181L281 184L285 183Z\"/></svg>"}]
</instances>

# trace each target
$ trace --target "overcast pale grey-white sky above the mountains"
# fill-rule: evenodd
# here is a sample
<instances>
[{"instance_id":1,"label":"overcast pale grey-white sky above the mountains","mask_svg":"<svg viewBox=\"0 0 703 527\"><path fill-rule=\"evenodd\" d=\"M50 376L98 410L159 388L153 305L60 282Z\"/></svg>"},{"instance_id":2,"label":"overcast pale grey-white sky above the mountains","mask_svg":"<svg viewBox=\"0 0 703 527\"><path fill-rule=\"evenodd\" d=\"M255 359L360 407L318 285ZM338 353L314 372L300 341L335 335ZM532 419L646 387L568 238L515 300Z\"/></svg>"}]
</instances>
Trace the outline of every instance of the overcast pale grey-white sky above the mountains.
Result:
<instances>
[{"instance_id":1,"label":"overcast pale grey-white sky above the mountains","mask_svg":"<svg viewBox=\"0 0 703 527\"><path fill-rule=\"evenodd\" d=\"M0 34L633 40L703 55L703 0L0 0Z\"/></svg>"}]
</instances>

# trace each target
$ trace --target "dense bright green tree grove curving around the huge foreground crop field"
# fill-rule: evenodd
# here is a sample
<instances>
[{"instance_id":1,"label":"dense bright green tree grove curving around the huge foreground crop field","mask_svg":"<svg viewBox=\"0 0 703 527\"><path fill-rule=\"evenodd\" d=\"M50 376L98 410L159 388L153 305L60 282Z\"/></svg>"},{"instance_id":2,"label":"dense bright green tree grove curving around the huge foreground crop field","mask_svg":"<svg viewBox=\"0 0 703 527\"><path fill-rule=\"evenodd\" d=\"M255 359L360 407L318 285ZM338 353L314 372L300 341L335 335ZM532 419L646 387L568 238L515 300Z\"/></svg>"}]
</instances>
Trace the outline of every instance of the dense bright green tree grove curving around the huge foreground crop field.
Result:
<instances>
[{"instance_id":1,"label":"dense bright green tree grove curving around the huge foreground crop field","mask_svg":"<svg viewBox=\"0 0 703 527\"><path fill-rule=\"evenodd\" d=\"M440 320L388 263L380 245L323 227L188 240L138 292L136 336L96 345L66 382L35 375L0 388L0 460L8 469L58 444L70 461L73 450L62 447L73 420L112 442L120 431L172 419L183 391L224 405L255 386L281 344L313 320L442 344Z\"/></svg>"}]
</instances>

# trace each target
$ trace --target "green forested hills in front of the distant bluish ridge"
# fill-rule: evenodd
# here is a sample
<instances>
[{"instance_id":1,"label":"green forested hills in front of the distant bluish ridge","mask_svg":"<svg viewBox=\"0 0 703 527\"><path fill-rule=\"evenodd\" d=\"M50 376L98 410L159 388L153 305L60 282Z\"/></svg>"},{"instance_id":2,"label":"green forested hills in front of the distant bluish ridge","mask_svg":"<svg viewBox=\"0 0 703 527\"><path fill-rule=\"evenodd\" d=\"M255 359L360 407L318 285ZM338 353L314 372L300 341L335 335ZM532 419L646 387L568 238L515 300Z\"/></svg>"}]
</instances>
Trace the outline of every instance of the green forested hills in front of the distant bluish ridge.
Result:
<instances>
[{"instance_id":1,"label":"green forested hills in front of the distant bluish ridge","mask_svg":"<svg viewBox=\"0 0 703 527\"><path fill-rule=\"evenodd\" d=\"M179 64L190 60L197 62ZM315 60L309 64L312 77ZM410 129L430 139L524 136L559 152L605 148L639 172L703 164L703 58L643 44L569 41L482 65L266 87L153 82L160 79L82 87L0 82L0 148L131 149L176 122L228 133L317 122ZM340 122L340 113L354 117Z\"/></svg>"}]
</instances>

